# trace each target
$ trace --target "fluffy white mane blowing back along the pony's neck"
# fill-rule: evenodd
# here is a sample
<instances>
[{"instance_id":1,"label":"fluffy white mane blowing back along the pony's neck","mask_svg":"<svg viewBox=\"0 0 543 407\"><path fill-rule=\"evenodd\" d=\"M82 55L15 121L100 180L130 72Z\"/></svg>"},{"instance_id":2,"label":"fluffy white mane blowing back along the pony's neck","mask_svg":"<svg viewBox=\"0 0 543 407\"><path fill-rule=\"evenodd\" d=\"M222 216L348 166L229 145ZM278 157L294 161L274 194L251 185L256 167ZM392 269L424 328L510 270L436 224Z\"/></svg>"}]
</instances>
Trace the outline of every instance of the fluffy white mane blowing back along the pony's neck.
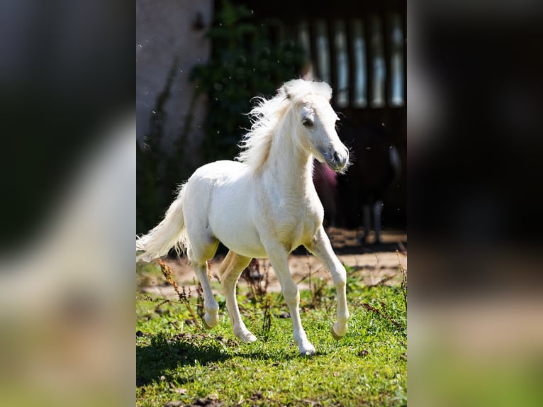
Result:
<instances>
[{"instance_id":1,"label":"fluffy white mane blowing back along the pony's neck","mask_svg":"<svg viewBox=\"0 0 543 407\"><path fill-rule=\"evenodd\" d=\"M258 169L266 162L271 139L277 124L284 117L291 104L296 104L309 94L318 94L330 100L332 88L325 82L293 79L283 84L271 99L257 96L256 106L248 113L251 129L243 136L239 147L242 149L236 160Z\"/></svg>"}]
</instances>

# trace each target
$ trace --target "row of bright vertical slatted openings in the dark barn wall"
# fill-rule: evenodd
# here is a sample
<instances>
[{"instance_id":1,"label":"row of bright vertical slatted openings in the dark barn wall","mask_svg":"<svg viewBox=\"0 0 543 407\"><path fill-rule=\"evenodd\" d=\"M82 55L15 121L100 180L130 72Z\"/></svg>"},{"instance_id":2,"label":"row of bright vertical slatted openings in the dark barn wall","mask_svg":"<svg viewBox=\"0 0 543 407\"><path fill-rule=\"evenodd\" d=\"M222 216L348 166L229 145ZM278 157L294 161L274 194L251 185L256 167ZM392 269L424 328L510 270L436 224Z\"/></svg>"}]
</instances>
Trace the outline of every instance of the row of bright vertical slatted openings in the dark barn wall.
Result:
<instances>
[{"instance_id":1,"label":"row of bright vertical slatted openings in the dark barn wall","mask_svg":"<svg viewBox=\"0 0 543 407\"><path fill-rule=\"evenodd\" d=\"M403 14L309 18L291 26L306 50L303 74L328 82L338 108L405 106Z\"/></svg>"}]
</instances>

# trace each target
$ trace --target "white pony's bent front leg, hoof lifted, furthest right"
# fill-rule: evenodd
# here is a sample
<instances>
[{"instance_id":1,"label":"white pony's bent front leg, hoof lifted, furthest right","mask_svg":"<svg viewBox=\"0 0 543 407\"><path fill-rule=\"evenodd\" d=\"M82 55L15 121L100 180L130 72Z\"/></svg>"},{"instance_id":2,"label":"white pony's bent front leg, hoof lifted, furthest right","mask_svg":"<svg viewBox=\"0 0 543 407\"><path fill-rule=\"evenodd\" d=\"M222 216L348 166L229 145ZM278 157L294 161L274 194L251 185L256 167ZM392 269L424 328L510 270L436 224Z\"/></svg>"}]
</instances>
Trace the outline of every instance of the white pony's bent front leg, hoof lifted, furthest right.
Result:
<instances>
[{"instance_id":1,"label":"white pony's bent front leg, hoof lifted, furthest right","mask_svg":"<svg viewBox=\"0 0 543 407\"><path fill-rule=\"evenodd\" d=\"M347 333L347 320L349 319L349 310L347 310L347 294L345 285L347 284L347 273L345 267L332 250L330 240L321 226L313 240L306 245L307 249L323 263L323 266L332 274L335 289L337 292L337 320L332 328L332 336L335 340L340 340Z\"/></svg>"}]
</instances>

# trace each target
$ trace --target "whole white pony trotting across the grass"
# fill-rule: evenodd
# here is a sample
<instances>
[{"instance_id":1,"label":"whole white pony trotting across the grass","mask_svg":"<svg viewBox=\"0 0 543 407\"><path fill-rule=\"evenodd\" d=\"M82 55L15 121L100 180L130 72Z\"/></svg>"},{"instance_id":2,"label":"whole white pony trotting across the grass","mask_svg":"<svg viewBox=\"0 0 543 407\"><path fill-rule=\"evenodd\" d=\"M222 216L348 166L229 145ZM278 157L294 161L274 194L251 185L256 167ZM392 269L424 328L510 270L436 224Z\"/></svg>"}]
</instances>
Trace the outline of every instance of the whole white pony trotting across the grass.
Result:
<instances>
[{"instance_id":1,"label":"whole white pony trotting across the grass","mask_svg":"<svg viewBox=\"0 0 543 407\"><path fill-rule=\"evenodd\" d=\"M175 247L186 251L202 284L208 327L218 323L218 303L208 279L208 260L218 242L230 250L219 276L233 332L243 342L257 338L247 330L235 296L237 280L253 257L268 257L291 313L293 337L301 355L312 355L300 320L298 287L289 271L289 254L304 245L331 274L337 290L336 340L347 333L345 267L332 251L323 228L323 206L313 186L313 157L341 172L349 151L335 130L332 89L324 82L294 79L250 111L252 128L235 161L196 169L181 186L164 220L136 240L137 259L150 261Z\"/></svg>"}]
</instances>

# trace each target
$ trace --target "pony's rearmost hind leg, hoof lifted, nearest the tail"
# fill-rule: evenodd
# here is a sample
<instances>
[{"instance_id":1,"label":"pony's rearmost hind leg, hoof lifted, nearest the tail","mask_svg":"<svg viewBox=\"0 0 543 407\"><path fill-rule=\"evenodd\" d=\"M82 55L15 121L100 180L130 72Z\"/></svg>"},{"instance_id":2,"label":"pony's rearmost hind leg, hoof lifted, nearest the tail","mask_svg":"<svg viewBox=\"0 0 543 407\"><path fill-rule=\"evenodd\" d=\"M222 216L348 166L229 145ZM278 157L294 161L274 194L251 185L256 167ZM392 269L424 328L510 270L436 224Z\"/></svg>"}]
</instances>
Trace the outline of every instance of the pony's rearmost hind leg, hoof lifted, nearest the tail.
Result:
<instances>
[{"instance_id":1,"label":"pony's rearmost hind leg, hoof lifted, nearest the tail","mask_svg":"<svg viewBox=\"0 0 543 407\"><path fill-rule=\"evenodd\" d=\"M192 243L192 242L191 242ZM207 260L211 259L215 255L217 250L218 241L211 240L208 245L199 246L203 250L196 251L194 246L189 248L187 255L189 255L189 260L191 260L194 266L194 272L196 272L196 277L202 285L203 291L203 307L206 313L203 316L203 323L207 328L213 328L217 325L219 317L218 310L219 306L217 301L215 301L215 296L213 296L213 291L211 290L211 285L209 283L208 277L208 262Z\"/></svg>"}]
</instances>

